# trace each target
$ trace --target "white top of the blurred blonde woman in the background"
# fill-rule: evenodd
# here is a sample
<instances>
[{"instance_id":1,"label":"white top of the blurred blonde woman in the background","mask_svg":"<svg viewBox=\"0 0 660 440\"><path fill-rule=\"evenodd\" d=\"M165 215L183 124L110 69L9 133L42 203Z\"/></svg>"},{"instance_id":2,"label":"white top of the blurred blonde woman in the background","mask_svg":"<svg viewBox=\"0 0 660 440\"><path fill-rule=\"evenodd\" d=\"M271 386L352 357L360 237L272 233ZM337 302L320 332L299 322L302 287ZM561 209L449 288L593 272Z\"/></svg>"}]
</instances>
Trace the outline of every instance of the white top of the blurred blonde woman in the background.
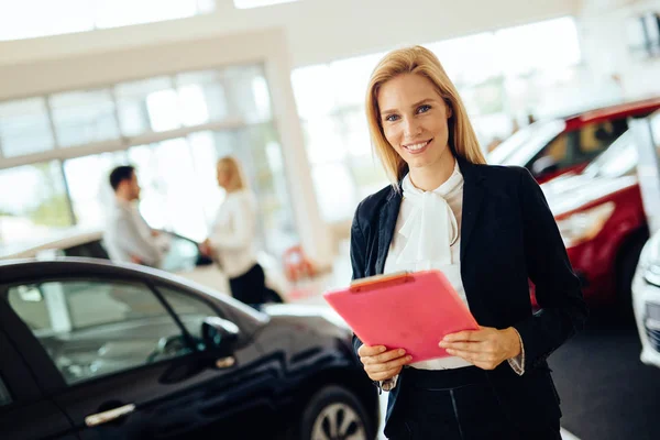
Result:
<instances>
[{"instance_id":1,"label":"white top of the blurred blonde woman in the background","mask_svg":"<svg viewBox=\"0 0 660 440\"><path fill-rule=\"evenodd\" d=\"M248 189L228 193L218 209L209 241L230 278L256 264L256 198Z\"/></svg>"}]
</instances>

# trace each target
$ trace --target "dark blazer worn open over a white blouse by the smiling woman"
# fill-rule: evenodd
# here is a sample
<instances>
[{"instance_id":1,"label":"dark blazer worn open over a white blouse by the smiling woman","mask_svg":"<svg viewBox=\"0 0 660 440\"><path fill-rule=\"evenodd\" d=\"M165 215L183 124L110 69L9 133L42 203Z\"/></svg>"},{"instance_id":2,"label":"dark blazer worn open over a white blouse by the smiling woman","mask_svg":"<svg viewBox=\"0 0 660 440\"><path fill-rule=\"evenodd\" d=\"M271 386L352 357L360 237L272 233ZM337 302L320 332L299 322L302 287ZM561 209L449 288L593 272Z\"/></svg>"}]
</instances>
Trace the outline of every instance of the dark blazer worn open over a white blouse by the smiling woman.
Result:
<instances>
[{"instance_id":1,"label":"dark blazer worn open over a white blouse by the smiling woman","mask_svg":"<svg viewBox=\"0 0 660 440\"><path fill-rule=\"evenodd\" d=\"M526 168L475 165L457 156L463 174L461 278L481 326L514 327L525 348L525 374L507 362L488 372L512 422L557 424L559 396L546 359L584 327L580 282L543 193ZM391 186L364 199L351 229L353 279L380 275L402 204ZM528 279L541 309L532 314ZM355 354L362 345L353 338ZM396 408L400 376L386 420Z\"/></svg>"}]
</instances>

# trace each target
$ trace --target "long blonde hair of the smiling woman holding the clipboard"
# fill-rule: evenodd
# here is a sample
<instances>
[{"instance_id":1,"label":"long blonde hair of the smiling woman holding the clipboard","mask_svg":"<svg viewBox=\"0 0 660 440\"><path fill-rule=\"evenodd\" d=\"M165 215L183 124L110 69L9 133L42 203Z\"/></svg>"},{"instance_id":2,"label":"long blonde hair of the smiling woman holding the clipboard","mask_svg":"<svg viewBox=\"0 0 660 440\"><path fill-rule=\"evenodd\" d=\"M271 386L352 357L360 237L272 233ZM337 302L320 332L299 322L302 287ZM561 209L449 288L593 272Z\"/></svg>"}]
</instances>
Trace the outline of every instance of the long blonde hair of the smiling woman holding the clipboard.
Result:
<instances>
[{"instance_id":1,"label":"long blonde hair of the smiling woman holding the clipboard","mask_svg":"<svg viewBox=\"0 0 660 440\"><path fill-rule=\"evenodd\" d=\"M438 57L422 46L404 47L389 52L381 59L372 73L366 91L369 131L392 184L398 188L399 180L408 172L408 165L385 139L377 98L383 84L403 74L421 75L433 82L436 90L451 110L451 117L448 120L449 146L455 155L468 162L485 164L486 160L468 118L463 101Z\"/></svg>"}]
</instances>

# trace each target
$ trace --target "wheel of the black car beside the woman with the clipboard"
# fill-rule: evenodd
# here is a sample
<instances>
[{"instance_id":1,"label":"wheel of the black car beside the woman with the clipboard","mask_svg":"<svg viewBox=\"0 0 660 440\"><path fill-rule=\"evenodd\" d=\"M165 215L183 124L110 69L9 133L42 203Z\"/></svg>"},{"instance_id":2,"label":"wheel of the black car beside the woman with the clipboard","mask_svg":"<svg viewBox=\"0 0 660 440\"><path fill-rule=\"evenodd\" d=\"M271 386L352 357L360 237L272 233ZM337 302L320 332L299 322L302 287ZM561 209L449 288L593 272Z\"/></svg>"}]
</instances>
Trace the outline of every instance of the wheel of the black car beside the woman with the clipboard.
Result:
<instances>
[{"instance_id":1,"label":"wheel of the black car beside the woman with the clipboard","mask_svg":"<svg viewBox=\"0 0 660 440\"><path fill-rule=\"evenodd\" d=\"M299 425L300 440L373 440L372 421L353 393L326 386L308 402Z\"/></svg>"}]
</instances>

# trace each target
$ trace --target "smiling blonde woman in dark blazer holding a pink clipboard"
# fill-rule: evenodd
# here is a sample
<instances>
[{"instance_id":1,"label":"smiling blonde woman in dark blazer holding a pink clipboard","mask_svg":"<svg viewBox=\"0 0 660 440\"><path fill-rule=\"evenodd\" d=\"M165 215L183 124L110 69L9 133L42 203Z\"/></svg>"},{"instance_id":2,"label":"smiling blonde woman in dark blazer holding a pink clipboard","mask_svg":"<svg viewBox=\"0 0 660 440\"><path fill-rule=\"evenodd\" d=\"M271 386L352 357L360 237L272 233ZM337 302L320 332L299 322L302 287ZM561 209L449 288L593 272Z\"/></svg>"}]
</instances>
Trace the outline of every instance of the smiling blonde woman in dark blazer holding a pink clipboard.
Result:
<instances>
[{"instance_id":1,"label":"smiling blonde woman in dark blazer holding a pink clipboard","mask_svg":"<svg viewBox=\"0 0 660 440\"><path fill-rule=\"evenodd\" d=\"M587 311L539 186L525 168L485 164L455 87L424 47L378 63L366 116L392 185L358 207L353 278L440 270L481 326L439 334L451 356L415 364L402 349L353 339L369 377L389 391L386 436L560 439L546 359Z\"/></svg>"}]
</instances>

